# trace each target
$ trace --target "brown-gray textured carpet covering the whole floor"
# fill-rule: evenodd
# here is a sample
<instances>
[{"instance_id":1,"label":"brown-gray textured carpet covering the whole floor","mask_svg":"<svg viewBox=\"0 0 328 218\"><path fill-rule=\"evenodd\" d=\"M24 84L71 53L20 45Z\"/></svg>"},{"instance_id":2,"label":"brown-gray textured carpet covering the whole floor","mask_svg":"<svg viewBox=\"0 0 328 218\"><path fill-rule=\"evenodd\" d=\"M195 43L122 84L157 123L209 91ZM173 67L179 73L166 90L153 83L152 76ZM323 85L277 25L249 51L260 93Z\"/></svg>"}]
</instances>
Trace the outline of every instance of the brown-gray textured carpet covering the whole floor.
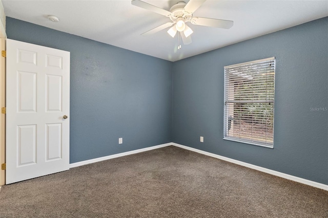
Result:
<instances>
[{"instance_id":1,"label":"brown-gray textured carpet covering the whole floor","mask_svg":"<svg viewBox=\"0 0 328 218\"><path fill-rule=\"evenodd\" d=\"M5 185L0 217L328 217L328 191L169 146Z\"/></svg>"}]
</instances>

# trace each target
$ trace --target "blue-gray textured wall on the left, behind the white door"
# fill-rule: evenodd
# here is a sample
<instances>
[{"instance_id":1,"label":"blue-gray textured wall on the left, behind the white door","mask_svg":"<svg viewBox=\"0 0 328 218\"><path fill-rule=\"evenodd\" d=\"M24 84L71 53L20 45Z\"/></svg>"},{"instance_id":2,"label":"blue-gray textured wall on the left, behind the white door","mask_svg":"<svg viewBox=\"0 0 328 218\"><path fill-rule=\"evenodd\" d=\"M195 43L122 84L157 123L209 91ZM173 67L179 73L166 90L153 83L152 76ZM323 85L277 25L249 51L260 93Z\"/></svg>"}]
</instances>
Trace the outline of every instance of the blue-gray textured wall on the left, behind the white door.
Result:
<instances>
[{"instance_id":1,"label":"blue-gray textured wall on the left, behind the white door","mask_svg":"<svg viewBox=\"0 0 328 218\"><path fill-rule=\"evenodd\" d=\"M171 141L172 62L10 17L7 35L71 52L71 163Z\"/></svg>"}]
</instances>

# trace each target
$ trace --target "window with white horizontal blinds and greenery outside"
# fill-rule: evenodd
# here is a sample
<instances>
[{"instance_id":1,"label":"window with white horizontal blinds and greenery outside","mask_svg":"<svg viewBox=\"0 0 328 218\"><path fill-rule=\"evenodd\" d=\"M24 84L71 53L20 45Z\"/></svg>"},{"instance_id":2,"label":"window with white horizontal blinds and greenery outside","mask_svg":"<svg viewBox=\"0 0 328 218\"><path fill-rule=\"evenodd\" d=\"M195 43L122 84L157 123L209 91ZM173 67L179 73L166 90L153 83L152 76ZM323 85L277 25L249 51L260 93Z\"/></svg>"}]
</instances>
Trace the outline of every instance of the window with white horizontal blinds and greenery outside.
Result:
<instances>
[{"instance_id":1,"label":"window with white horizontal blinds and greenery outside","mask_svg":"<svg viewBox=\"0 0 328 218\"><path fill-rule=\"evenodd\" d=\"M273 148L275 58L224 67L224 138Z\"/></svg>"}]
</instances>

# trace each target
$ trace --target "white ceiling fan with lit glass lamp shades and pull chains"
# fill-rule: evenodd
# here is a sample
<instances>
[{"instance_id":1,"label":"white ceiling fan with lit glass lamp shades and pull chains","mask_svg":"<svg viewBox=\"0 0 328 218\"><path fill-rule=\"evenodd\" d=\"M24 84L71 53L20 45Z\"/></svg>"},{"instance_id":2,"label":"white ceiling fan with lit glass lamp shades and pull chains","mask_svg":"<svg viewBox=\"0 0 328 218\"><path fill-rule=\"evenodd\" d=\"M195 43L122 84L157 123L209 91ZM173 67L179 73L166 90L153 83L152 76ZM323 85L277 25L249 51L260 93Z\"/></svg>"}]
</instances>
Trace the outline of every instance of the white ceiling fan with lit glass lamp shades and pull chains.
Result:
<instances>
[{"instance_id":1,"label":"white ceiling fan with lit glass lamp shades and pull chains","mask_svg":"<svg viewBox=\"0 0 328 218\"><path fill-rule=\"evenodd\" d=\"M147 36L154 33L157 33L163 29L171 27L168 30L168 33L174 37L177 32L181 35L183 44L188 45L192 42L191 34L193 33L192 29L187 25L190 22L193 25L207 26L207 27L216 27L223 29L230 29L234 21L232 20L223 20L223 19L213 19L205 17L193 17L193 13L205 2L206 0L190 0L187 4L185 2L178 2L173 5L170 11L165 9L158 8L154 5L148 4L141 0L132 0L131 4L140 8L144 8L155 13L169 17L172 22L165 23L160 25L152 30L149 30L141 35ZM180 46L181 48L181 46Z\"/></svg>"}]
</instances>

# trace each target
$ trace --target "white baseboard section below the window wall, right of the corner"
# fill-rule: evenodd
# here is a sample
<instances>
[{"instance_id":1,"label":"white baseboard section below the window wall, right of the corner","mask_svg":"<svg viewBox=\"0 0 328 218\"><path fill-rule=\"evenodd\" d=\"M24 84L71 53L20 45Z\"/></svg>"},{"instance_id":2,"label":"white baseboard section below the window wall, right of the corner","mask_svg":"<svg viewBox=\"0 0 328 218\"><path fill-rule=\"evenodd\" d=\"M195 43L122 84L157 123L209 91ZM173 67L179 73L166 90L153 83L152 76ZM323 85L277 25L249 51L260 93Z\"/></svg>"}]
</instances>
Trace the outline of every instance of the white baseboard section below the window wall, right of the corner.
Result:
<instances>
[{"instance_id":1,"label":"white baseboard section below the window wall, right of the corner","mask_svg":"<svg viewBox=\"0 0 328 218\"><path fill-rule=\"evenodd\" d=\"M188 147L188 146L185 146L185 145L180 145L180 144L177 144L177 143L172 143L172 145L174 145L176 147L184 148L184 149L187 149L187 150L191 150L191 151L197 152L197 153L202 154L202 155L207 155L207 156L210 156L212 158L217 158L217 159L220 159L220 160L223 160L223 161L228 161L228 162L238 164L238 165L241 165L241 166L245 166L245 167L248 167L248 168L251 168L251 169L256 169L256 170L261 171L261 172L266 172L266 173L269 173L269 174L277 176L277 177L292 180L294 182L299 182L299 183L302 183L302 184L305 184L305 185L310 185L310 186L313 186L313 187L316 187L316 188L321 188L323 190L328 191L328 185L325 185L325 184L322 184L322 183L313 182L311 180L302 179L302 178L295 177L295 176L292 176L292 175L289 175L289 174L286 174L286 173L278 172L278 171L275 171L275 170L272 170L272 169L267 169L267 168L264 168L264 167L256 166L256 165L245 163L245 162L242 162L242 161L237 161L237 160L234 160L234 159L231 159L231 158L226 158L226 157L223 157L223 156L220 156L220 155L215 155L215 154L212 154L210 152L199 150L199 149L192 148L192 147Z\"/></svg>"}]
</instances>

